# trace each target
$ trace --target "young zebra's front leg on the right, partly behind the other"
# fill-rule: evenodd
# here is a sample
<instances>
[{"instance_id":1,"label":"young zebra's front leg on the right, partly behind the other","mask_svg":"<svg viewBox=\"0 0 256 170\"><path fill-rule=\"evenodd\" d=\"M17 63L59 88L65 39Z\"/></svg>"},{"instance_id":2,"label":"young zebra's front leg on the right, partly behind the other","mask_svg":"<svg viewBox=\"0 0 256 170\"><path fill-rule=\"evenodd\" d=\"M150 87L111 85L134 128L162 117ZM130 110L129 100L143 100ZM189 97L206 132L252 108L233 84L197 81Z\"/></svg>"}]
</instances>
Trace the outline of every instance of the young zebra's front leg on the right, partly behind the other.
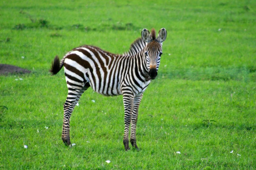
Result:
<instances>
[{"instance_id":1,"label":"young zebra's front leg on the right, partly behind the other","mask_svg":"<svg viewBox=\"0 0 256 170\"><path fill-rule=\"evenodd\" d=\"M137 150L139 150L137 144L136 144L136 124L137 124L137 118L138 118L138 110L139 110L139 104L142 99L142 95L136 96L133 101L133 113L132 113L132 121L131 121L131 134L130 134L130 142L133 147L135 147Z\"/></svg>"}]
</instances>

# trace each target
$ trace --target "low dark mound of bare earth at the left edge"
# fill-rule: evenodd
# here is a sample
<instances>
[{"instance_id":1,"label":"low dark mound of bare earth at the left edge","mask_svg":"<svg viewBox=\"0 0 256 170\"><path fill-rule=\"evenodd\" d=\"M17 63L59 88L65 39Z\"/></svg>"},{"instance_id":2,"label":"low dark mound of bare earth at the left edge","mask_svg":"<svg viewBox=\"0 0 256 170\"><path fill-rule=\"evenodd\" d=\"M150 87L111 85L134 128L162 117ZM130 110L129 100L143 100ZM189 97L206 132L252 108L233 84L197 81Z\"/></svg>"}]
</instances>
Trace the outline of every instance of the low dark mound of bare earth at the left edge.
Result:
<instances>
[{"instance_id":1,"label":"low dark mound of bare earth at the left edge","mask_svg":"<svg viewBox=\"0 0 256 170\"><path fill-rule=\"evenodd\" d=\"M29 70L8 64L0 64L0 74L24 74L30 73Z\"/></svg>"}]
</instances>

